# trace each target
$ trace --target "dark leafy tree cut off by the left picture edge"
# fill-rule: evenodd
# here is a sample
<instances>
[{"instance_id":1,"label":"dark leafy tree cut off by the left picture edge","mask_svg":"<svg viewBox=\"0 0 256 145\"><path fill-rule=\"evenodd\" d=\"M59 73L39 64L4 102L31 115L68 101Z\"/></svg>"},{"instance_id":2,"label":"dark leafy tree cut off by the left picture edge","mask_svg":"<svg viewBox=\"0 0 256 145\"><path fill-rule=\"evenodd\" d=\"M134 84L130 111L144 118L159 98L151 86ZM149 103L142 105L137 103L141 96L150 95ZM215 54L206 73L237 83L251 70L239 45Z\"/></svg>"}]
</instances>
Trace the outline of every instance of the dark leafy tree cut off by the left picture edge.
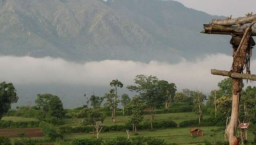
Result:
<instances>
[{"instance_id":1,"label":"dark leafy tree cut off by the left picture edge","mask_svg":"<svg viewBox=\"0 0 256 145\"><path fill-rule=\"evenodd\" d=\"M12 83L2 82L0 84L0 120L11 109L11 104L16 103L18 99Z\"/></svg>"}]
</instances>

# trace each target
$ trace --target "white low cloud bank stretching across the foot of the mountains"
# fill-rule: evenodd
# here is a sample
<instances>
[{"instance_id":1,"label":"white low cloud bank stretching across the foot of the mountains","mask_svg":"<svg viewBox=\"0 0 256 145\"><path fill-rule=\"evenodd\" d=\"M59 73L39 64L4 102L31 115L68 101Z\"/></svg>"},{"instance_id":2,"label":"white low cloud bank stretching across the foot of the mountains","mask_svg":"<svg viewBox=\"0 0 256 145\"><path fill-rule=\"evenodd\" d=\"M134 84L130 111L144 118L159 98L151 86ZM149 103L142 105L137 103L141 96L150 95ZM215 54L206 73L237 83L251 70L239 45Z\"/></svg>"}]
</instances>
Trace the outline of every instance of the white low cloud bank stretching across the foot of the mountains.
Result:
<instances>
[{"instance_id":1,"label":"white low cloud bank stretching across the foot of the mountains","mask_svg":"<svg viewBox=\"0 0 256 145\"><path fill-rule=\"evenodd\" d=\"M224 77L211 75L212 68L229 70L232 57L217 54L208 55L194 62L186 60L178 64L151 61L104 60L74 63L50 57L14 57L1 56L0 81L22 84L74 84L108 86L118 78L125 86L131 85L137 74L157 76L159 79L174 82L178 88L202 89L208 93L217 88L217 83ZM256 73L256 60L251 61L252 73ZM254 85L254 83L249 85Z\"/></svg>"}]
</instances>

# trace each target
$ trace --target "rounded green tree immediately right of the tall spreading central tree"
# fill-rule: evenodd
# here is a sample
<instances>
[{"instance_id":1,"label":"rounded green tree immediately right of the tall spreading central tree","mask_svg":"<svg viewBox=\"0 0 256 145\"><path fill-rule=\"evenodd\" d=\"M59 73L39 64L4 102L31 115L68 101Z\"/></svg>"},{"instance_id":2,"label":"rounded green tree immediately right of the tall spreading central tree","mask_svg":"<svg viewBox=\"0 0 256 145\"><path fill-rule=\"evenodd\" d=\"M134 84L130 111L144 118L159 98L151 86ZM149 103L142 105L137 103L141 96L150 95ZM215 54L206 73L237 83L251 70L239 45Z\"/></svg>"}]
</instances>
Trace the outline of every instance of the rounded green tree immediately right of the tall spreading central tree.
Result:
<instances>
[{"instance_id":1,"label":"rounded green tree immediately right of the tall spreading central tree","mask_svg":"<svg viewBox=\"0 0 256 145\"><path fill-rule=\"evenodd\" d=\"M176 85L165 80L158 81L158 86L160 87L160 94L165 97L165 109L168 109L170 104L172 104L177 91Z\"/></svg>"}]
</instances>

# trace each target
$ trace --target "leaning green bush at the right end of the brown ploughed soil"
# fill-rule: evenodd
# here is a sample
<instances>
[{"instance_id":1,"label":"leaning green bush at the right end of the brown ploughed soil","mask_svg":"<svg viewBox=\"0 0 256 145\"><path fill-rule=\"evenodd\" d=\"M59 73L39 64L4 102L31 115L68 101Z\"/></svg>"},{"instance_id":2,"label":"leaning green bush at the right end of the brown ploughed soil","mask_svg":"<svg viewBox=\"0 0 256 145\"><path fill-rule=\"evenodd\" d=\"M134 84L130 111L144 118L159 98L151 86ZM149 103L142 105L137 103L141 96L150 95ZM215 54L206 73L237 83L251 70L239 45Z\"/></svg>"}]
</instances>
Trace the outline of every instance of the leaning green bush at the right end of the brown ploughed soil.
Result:
<instances>
[{"instance_id":1,"label":"leaning green bush at the right end of the brown ploughed soil","mask_svg":"<svg viewBox=\"0 0 256 145\"><path fill-rule=\"evenodd\" d=\"M57 132L57 129L54 128L52 124L42 121L40 122L39 127L42 129L42 132L50 138L51 141L55 141L57 138L62 138L62 135Z\"/></svg>"}]
</instances>

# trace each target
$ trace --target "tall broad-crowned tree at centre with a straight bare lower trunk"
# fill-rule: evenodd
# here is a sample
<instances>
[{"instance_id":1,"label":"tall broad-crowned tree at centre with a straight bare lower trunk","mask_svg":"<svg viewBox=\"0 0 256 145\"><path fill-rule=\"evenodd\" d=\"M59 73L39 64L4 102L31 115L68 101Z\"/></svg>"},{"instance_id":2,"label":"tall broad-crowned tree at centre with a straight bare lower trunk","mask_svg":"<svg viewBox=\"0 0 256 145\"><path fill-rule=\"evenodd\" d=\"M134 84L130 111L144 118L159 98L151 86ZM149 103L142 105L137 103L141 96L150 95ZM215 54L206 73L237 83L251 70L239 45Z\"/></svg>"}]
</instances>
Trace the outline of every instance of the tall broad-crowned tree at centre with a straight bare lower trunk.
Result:
<instances>
[{"instance_id":1,"label":"tall broad-crowned tree at centre with a straight bare lower trunk","mask_svg":"<svg viewBox=\"0 0 256 145\"><path fill-rule=\"evenodd\" d=\"M132 91L139 93L139 99L146 103L150 108L150 123L153 129L152 122L154 117L155 108L161 106L165 102L165 97L160 94L160 87L158 85L158 78L155 76L137 75L134 79L136 85L127 86Z\"/></svg>"}]
</instances>

